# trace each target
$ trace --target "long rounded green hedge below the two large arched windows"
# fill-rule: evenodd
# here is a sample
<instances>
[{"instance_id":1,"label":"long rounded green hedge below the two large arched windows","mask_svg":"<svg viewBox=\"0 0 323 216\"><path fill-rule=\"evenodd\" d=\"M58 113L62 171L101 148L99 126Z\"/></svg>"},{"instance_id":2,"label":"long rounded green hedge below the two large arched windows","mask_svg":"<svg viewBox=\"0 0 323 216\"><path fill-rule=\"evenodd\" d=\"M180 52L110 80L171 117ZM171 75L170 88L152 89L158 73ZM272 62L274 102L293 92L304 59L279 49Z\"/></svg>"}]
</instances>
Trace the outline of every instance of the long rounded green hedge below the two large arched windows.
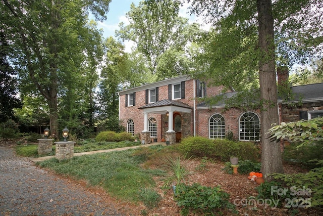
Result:
<instances>
[{"instance_id":1,"label":"long rounded green hedge below the two large arched windows","mask_svg":"<svg viewBox=\"0 0 323 216\"><path fill-rule=\"evenodd\" d=\"M182 153L189 156L208 157L228 161L234 155L240 160L255 161L259 157L259 150L252 142L234 142L226 139L210 140L203 137L184 138L179 145Z\"/></svg>"}]
</instances>

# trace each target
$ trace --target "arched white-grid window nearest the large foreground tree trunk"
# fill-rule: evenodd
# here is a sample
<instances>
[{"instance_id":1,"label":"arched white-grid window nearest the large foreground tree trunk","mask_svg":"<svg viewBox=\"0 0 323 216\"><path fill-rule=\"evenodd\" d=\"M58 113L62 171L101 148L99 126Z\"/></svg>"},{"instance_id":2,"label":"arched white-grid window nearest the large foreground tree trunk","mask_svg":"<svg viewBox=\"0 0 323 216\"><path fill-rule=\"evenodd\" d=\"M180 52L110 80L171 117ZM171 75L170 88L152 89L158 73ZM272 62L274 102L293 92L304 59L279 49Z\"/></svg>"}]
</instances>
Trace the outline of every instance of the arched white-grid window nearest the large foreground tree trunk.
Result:
<instances>
[{"instance_id":1,"label":"arched white-grid window nearest the large foreground tree trunk","mask_svg":"<svg viewBox=\"0 0 323 216\"><path fill-rule=\"evenodd\" d=\"M246 112L240 116L239 120L239 140L258 141L260 131L260 121L257 114Z\"/></svg>"}]
</instances>

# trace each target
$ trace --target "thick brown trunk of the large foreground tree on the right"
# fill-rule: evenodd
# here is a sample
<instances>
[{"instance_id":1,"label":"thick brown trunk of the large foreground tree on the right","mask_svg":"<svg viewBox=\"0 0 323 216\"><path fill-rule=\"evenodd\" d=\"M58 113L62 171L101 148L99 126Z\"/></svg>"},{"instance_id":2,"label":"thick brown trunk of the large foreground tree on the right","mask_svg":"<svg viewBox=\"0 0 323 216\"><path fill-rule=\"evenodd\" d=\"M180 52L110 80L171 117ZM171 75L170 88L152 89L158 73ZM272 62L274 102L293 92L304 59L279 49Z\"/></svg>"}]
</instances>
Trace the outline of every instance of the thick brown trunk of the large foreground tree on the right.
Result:
<instances>
[{"instance_id":1,"label":"thick brown trunk of the large foreground tree on the right","mask_svg":"<svg viewBox=\"0 0 323 216\"><path fill-rule=\"evenodd\" d=\"M279 142L266 134L273 123L279 123L275 70L274 19L271 0L257 0L259 32L259 84L261 100L261 171L268 174L284 172Z\"/></svg>"}]
</instances>

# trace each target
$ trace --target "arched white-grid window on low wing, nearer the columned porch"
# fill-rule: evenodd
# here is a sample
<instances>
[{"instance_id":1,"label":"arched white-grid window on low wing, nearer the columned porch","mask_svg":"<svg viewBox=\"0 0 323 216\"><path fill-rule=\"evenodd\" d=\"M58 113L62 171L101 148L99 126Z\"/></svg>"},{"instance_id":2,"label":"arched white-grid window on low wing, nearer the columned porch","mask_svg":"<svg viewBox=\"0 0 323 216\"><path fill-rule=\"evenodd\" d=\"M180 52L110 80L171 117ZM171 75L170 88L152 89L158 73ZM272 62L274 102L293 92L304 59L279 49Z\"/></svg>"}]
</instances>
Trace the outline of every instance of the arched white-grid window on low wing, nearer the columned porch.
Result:
<instances>
[{"instance_id":1,"label":"arched white-grid window on low wing, nearer the columned porch","mask_svg":"<svg viewBox=\"0 0 323 216\"><path fill-rule=\"evenodd\" d=\"M226 125L223 115L212 115L208 125L210 139L224 139L226 137Z\"/></svg>"}]
</instances>

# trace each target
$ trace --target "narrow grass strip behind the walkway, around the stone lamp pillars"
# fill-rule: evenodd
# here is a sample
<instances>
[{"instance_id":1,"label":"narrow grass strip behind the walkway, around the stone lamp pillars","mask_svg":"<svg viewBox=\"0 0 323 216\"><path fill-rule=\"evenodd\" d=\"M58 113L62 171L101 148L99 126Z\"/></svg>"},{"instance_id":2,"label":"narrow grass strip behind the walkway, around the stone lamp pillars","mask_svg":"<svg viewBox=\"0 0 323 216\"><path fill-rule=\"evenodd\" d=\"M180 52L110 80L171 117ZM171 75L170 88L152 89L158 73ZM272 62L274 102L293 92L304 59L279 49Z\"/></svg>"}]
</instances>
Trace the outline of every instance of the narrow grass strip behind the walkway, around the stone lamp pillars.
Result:
<instances>
[{"instance_id":1,"label":"narrow grass strip behind the walkway, around the stone lamp pillars","mask_svg":"<svg viewBox=\"0 0 323 216\"><path fill-rule=\"evenodd\" d=\"M105 149L115 149L122 147L130 147L130 146L138 146L141 145L140 142L130 142L130 141L122 141L122 142L95 142L93 139L79 142L74 146L74 153L87 152L87 151L97 151L97 150L105 150ZM52 146L52 152L39 155L38 154L38 145L37 144L25 144L25 145L17 145L16 153L19 156L23 157L43 157L55 155L55 145Z\"/></svg>"}]
</instances>

